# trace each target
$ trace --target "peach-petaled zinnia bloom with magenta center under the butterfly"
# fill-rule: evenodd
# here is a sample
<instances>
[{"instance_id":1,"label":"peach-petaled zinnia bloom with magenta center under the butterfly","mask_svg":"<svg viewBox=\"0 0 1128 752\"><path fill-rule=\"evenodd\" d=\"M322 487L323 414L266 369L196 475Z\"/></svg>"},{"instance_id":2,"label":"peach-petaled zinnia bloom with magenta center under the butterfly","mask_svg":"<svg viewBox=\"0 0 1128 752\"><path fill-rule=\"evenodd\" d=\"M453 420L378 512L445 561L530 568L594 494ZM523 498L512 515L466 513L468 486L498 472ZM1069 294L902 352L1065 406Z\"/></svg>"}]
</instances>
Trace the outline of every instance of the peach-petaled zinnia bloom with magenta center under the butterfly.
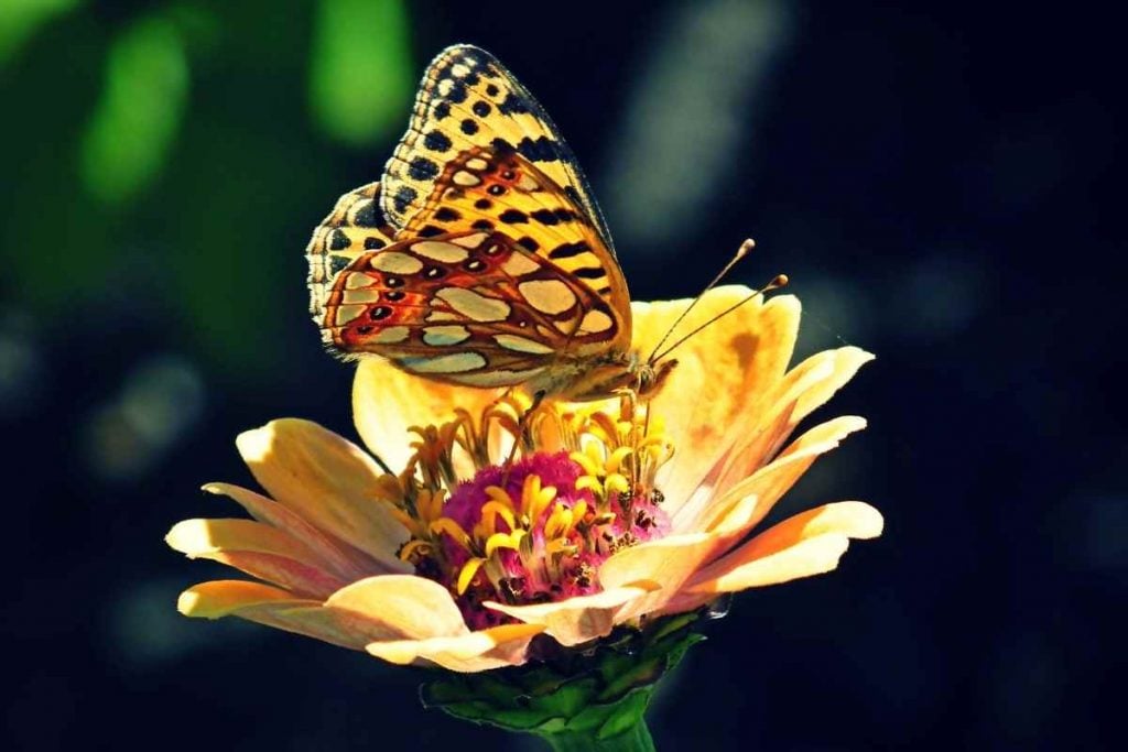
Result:
<instances>
[{"instance_id":1,"label":"peach-petaled zinnia bloom with magenta center under the butterfly","mask_svg":"<svg viewBox=\"0 0 1128 752\"><path fill-rule=\"evenodd\" d=\"M684 330L748 294L708 292ZM637 350L687 304L634 303ZM379 460L308 421L241 434L271 498L209 484L254 520L188 520L167 540L263 582L205 582L178 608L481 672L834 569L851 538L880 534L870 505L756 530L816 458L865 426L838 417L787 443L872 357L841 347L787 370L799 317L793 297L757 298L689 338L652 400L545 400L523 419L519 393L363 361L354 416Z\"/></svg>"}]
</instances>

